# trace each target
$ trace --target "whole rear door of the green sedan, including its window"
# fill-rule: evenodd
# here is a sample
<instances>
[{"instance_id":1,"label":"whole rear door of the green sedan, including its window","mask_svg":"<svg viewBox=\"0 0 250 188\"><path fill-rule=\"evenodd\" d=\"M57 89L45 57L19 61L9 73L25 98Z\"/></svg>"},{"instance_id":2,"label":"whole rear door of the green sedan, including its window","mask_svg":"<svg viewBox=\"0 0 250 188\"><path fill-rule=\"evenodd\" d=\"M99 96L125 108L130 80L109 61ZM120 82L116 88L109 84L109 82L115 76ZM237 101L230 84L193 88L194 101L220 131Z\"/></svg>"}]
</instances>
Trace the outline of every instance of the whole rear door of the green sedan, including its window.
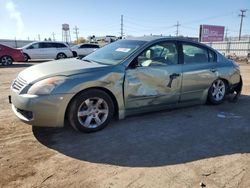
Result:
<instances>
[{"instance_id":1,"label":"whole rear door of the green sedan, including its window","mask_svg":"<svg viewBox=\"0 0 250 188\"><path fill-rule=\"evenodd\" d=\"M201 45L183 42L181 102L204 99L217 78L215 53Z\"/></svg>"}]
</instances>

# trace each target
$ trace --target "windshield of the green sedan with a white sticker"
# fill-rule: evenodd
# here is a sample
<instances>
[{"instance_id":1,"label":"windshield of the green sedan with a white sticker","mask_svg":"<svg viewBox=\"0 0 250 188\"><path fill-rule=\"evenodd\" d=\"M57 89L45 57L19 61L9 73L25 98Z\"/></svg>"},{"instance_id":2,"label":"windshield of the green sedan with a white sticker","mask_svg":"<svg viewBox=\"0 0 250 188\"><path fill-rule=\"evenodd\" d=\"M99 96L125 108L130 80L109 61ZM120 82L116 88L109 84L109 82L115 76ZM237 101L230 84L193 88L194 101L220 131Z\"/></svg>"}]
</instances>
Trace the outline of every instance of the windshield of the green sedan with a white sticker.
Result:
<instances>
[{"instance_id":1,"label":"windshield of the green sedan with a white sticker","mask_svg":"<svg viewBox=\"0 0 250 188\"><path fill-rule=\"evenodd\" d=\"M144 43L145 41L119 40L100 48L92 54L84 57L82 60L94 61L107 65L116 65L125 60Z\"/></svg>"}]
</instances>

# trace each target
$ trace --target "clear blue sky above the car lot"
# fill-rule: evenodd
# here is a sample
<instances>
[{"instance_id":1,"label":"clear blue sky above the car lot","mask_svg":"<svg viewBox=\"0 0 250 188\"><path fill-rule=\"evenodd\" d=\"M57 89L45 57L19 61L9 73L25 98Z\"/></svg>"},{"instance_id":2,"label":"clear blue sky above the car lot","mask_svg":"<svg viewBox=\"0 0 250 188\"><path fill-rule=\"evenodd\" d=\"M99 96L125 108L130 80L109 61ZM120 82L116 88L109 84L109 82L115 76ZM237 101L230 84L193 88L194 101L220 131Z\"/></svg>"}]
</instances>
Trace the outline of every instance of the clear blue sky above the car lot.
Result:
<instances>
[{"instance_id":1,"label":"clear blue sky above the car lot","mask_svg":"<svg viewBox=\"0 0 250 188\"><path fill-rule=\"evenodd\" d=\"M225 26L238 36L240 9L248 9L242 34L250 34L250 0L0 0L0 39L62 40L62 24L79 28L79 36L126 35L198 37L199 25Z\"/></svg>"}]
</instances>

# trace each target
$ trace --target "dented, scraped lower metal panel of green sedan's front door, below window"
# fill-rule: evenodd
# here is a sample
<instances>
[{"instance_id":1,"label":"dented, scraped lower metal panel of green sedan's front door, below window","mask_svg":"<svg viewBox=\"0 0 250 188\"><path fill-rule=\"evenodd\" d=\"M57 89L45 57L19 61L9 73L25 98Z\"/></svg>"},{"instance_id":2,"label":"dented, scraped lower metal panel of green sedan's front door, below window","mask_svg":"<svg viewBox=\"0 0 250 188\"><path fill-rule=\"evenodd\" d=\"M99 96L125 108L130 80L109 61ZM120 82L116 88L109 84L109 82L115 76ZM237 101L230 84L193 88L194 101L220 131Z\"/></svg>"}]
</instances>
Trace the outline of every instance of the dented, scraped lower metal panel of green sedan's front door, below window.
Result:
<instances>
[{"instance_id":1,"label":"dented, scraped lower metal panel of green sedan's front door, below window","mask_svg":"<svg viewBox=\"0 0 250 188\"><path fill-rule=\"evenodd\" d=\"M127 69L124 82L126 109L178 103L181 65L156 65Z\"/></svg>"}]
</instances>

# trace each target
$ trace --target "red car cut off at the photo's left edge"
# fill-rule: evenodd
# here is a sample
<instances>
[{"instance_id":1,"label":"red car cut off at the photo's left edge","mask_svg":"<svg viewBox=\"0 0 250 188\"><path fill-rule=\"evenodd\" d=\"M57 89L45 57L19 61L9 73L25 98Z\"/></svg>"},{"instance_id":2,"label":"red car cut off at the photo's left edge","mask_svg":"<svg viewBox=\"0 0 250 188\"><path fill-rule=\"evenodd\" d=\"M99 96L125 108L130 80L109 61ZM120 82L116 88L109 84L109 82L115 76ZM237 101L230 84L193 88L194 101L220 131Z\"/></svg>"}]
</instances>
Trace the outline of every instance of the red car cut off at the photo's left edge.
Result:
<instances>
[{"instance_id":1,"label":"red car cut off at the photo's left edge","mask_svg":"<svg viewBox=\"0 0 250 188\"><path fill-rule=\"evenodd\" d=\"M13 61L25 61L22 50L0 44L0 64L12 65Z\"/></svg>"}]
</instances>

